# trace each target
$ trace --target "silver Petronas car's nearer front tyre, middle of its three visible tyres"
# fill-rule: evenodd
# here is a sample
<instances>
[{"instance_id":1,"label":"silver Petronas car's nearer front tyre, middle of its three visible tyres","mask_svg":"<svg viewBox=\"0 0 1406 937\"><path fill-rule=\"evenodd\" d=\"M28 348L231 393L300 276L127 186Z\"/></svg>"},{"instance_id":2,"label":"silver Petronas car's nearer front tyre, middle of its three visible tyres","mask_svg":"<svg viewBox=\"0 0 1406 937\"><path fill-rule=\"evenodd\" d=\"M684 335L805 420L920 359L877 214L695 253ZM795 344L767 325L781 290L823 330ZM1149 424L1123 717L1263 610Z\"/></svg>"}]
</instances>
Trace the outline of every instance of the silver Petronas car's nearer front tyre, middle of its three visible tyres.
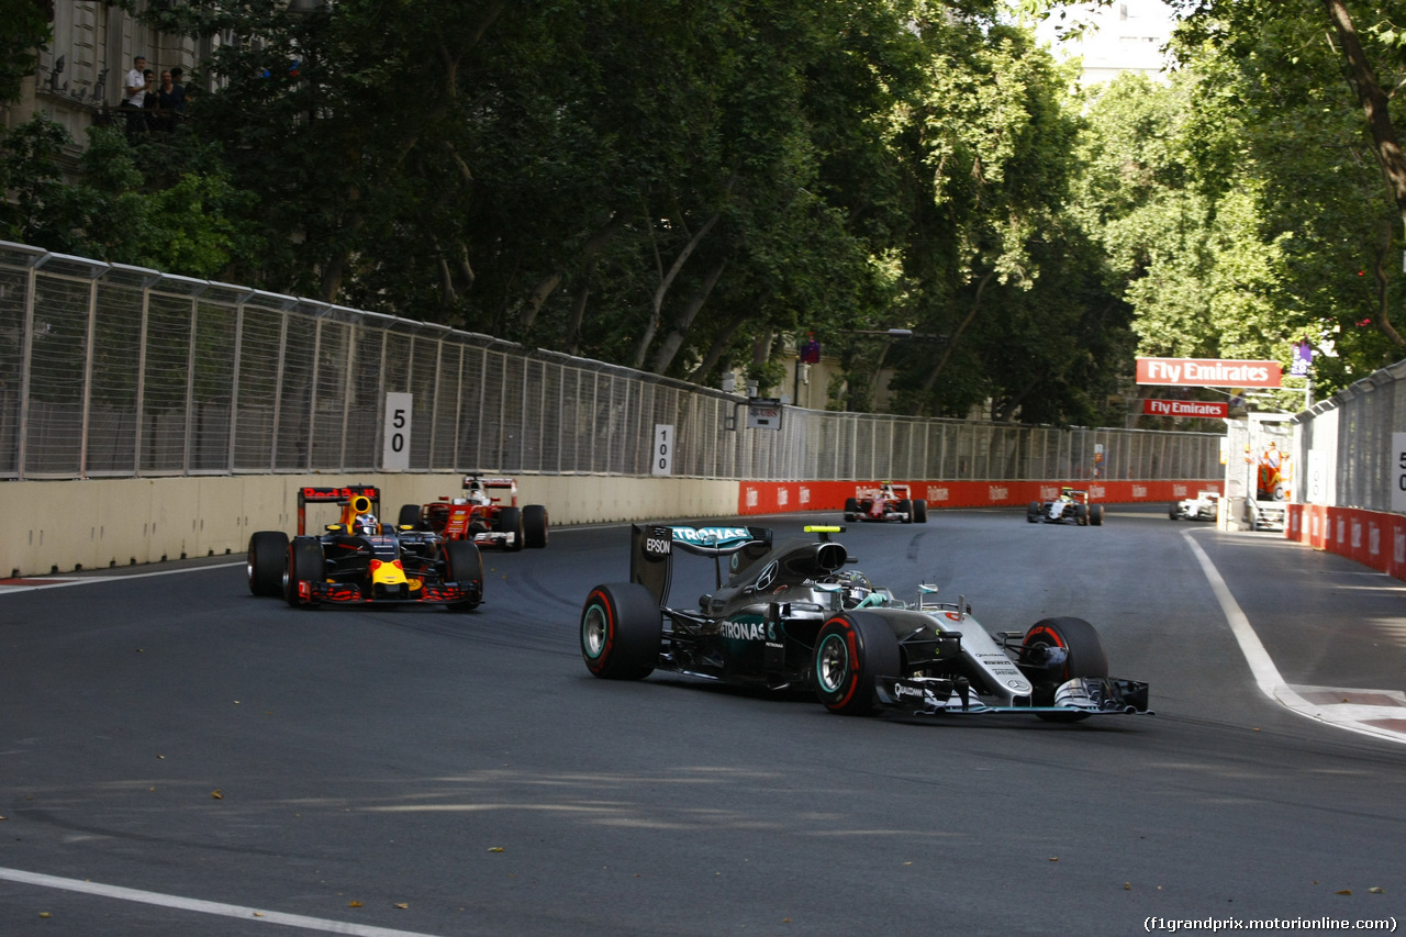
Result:
<instances>
[{"instance_id":1,"label":"silver Petronas car's nearer front tyre, middle of its three visible tyres","mask_svg":"<svg viewBox=\"0 0 1406 937\"><path fill-rule=\"evenodd\" d=\"M898 664L898 639L884 619L868 612L835 615L815 639L815 695L830 712L872 716L875 677L897 677Z\"/></svg>"}]
</instances>

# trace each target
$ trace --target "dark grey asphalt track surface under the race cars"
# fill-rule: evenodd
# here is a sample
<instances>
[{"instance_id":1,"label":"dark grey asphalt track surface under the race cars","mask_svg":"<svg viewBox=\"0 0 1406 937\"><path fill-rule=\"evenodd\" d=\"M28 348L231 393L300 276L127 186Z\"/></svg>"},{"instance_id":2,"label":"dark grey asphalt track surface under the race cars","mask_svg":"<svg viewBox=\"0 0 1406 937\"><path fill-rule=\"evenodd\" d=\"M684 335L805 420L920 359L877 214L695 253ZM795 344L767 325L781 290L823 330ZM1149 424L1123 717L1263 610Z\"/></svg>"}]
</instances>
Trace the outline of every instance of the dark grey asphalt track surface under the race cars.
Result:
<instances>
[{"instance_id":1,"label":"dark grey asphalt track surface under the race cars","mask_svg":"<svg viewBox=\"0 0 1406 937\"><path fill-rule=\"evenodd\" d=\"M1119 506L1102 528L934 511L839 539L993 630L1088 619L1157 715L858 719L595 680L578 615L626 578L623 526L485 553L471 615L295 611L228 560L0 591L0 934L1406 923L1406 736L1271 699L1192 543L1298 687L1399 695L1406 584Z\"/></svg>"}]
</instances>

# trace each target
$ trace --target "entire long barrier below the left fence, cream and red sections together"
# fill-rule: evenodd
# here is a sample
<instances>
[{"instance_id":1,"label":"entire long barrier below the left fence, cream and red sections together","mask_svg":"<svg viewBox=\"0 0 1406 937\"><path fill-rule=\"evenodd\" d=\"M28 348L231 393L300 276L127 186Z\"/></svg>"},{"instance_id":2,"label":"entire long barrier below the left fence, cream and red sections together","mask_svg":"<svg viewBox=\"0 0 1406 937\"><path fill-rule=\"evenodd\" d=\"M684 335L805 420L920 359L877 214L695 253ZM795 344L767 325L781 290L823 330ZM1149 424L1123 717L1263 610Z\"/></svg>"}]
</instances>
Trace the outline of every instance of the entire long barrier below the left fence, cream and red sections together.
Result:
<instances>
[{"instance_id":1,"label":"entire long barrier below the left fence, cream and red sections together","mask_svg":"<svg viewBox=\"0 0 1406 937\"><path fill-rule=\"evenodd\" d=\"M460 491L461 474L202 476L0 483L0 577L44 575L139 566L162 560L243 556L254 530L298 526L305 485L373 484L387 521L401 505ZM546 505L553 525L675 518L839 511L855 481L735 481L623 476L517 476L517 502ZM1053 498L1060 484L1087 488L1095 501L1185 498L1205 481L912 481L928 508L1024 506ZM309 516L326 523L330 506ZM316 529L316 528L314 528Z\"/></svg>"}]
</instances>

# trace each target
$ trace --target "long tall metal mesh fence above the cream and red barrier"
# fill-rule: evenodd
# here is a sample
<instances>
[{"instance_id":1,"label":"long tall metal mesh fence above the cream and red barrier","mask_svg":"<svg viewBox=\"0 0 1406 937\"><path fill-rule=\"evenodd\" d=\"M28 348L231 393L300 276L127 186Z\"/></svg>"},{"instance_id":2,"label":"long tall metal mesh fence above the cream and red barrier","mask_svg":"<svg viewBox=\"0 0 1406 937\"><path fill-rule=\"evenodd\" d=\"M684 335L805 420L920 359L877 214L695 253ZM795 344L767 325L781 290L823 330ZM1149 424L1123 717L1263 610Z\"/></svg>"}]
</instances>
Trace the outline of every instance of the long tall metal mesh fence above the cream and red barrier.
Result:
<instances>
[{"instance_id":1,"label":"long tall metal mesh fence above the cream and red barrier","mask_svg":"<svg viewBox=\"0 0 1406 937\"><path fill-rule=\"evenodd\" d=\"M381 468L787 480L1218 478L1219 433L1056 429L787 407L486 335L0 242L0 478ZM741 429L728 429L730 425Z\"/></svg>"}]
</instances>

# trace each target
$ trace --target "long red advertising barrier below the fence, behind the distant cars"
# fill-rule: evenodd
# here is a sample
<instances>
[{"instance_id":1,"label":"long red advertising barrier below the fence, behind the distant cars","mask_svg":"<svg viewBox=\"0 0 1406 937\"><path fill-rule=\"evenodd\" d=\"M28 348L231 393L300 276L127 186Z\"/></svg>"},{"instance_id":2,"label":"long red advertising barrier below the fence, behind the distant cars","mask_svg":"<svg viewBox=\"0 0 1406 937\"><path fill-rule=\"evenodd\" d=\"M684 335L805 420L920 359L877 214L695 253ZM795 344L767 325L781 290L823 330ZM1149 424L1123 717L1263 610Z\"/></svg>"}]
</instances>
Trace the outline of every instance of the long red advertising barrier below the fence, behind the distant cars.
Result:
<instances>
[{"instance_id":1,"label":"long red advertising barrier below the fence, behind the distant cars","mask_svg":"<svg viewBox=\"0 0 1406 937\"><path fill-rule=\"evenodd\" d=\"M1024 508L1031 501L1049 501L1060 487L1088 491L1092 501L1136 504L1181 501L1198 491L1220 491L1220 481L904 481L914 498L929 509L938 508ZM789 514L801 511L844 511L845 499L875 488L879 481L744 481L738 485L737 512Z\"/></svg>"}]
</instances>

